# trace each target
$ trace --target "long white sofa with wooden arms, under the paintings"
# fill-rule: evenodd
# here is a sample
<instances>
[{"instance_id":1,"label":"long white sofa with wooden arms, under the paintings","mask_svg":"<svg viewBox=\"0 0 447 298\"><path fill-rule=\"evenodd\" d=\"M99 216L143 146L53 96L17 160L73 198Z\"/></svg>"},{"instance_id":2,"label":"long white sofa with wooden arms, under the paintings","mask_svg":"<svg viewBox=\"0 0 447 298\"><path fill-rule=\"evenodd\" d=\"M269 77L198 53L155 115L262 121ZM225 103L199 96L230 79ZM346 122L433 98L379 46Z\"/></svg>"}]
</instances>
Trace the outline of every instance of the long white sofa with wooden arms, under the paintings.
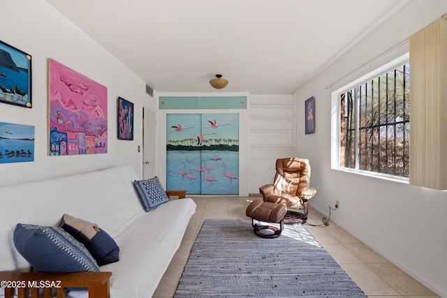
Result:
<instances>
[{"instance_id":1,"label":"long white sofa with wooden arms, under the paintings","mask_svg":"<svg viewBox=\"0 0 447 298\"><path fill-rule=\"evenodd\" d=\"M119 262L99 267L112 272L110 297L151 297L196 204L170 200L146 212L134 180L133 167L122 166L0 188L0 271L30 267L13 244L17 223L59 226L63 214L70 214L96 223L119 246Z\"/></svg>"}]
</instances>

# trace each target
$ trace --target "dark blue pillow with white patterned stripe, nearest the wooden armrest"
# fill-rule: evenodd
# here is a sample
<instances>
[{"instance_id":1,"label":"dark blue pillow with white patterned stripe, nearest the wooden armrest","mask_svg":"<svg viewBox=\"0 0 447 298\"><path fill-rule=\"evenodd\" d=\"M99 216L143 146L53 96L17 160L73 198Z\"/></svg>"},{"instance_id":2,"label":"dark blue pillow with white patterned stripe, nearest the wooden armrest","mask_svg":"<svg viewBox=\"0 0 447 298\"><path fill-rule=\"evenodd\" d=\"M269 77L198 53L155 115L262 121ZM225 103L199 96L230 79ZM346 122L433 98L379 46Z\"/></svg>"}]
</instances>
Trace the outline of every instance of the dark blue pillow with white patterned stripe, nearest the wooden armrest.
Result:
<instances>
[{"instance_id":1,"label":"dark blue pillow with white patterned stripe, nearest the wooden armrest","mask_svg":"<svg viewBox=\"0 0 447 298\"><path fill-rule=\"evenodd\" d=\"M62 228L18 223L13 241L17 251L37 271L99 271L85 246Z\"/></svg>"}]
</instances>

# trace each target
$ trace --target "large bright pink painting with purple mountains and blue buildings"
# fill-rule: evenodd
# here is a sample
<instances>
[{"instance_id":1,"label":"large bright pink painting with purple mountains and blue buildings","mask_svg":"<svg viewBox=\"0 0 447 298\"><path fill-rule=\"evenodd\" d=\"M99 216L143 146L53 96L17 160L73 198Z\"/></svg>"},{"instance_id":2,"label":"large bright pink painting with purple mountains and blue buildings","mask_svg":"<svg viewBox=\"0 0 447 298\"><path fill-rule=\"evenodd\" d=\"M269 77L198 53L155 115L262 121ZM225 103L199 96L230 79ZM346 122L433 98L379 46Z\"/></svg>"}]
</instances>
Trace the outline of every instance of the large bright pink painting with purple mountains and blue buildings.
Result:
<instances>
[{"instance_id":1,"label":"large bright pink painting with purple mountains and blue buildings","mask_svg":"<svg viewBox=\"0 0 447 298\"><path fill-rule=\"evenodd\" d=\"M49 155L107 153L107 88L49 59Z\"/></svg>"}]
</instances>

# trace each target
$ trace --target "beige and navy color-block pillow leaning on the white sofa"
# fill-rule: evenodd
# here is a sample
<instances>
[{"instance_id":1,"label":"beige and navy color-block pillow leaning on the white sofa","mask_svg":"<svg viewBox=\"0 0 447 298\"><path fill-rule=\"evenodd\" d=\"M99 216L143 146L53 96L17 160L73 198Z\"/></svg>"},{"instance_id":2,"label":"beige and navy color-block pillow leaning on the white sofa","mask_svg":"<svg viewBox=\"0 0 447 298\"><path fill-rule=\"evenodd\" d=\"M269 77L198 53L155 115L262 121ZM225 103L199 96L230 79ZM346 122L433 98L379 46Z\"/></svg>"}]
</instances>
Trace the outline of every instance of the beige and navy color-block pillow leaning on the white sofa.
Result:
<instances>
[{"instance_id":1,"label":"beige and navy color-block pillow leaning on the white sofa","mask_svg":"<svg viewBox=\"0 0 447 298\"><path fill-rule=\"evenodd\" d=\"M99 266L119 261L119 247L115 240L98 225L64 214L61 228L84 244Z\"/></svg>"}]
</instances>

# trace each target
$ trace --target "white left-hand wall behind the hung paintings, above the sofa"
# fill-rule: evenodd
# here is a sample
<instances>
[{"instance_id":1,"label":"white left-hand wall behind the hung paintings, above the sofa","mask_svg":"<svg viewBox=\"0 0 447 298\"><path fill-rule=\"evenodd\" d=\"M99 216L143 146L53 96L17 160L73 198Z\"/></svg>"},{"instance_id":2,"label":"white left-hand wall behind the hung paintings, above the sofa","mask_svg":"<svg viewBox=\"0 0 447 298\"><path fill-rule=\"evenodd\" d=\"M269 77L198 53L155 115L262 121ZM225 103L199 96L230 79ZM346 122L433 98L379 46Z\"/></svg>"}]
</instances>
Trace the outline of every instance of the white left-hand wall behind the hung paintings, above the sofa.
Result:
<instances>
[{"instance_id":1,"label":"white left-hand wall behind the hung paintings, above the sofa","mask_svg":"<svg viewBox=\"0 0 447 298\"><path fill-rule=\"evenodd\" d=\"M34 162L0 164L0 186L123 164L140 174L142 105L156 110L145 82L44 0L2 0L1 11L0 39L31 54L33 107L0 103L0 121L35 126L36 140ZM48 58L108 88L108 154L47 156ZM134 103L133 141L117 140L117 96Z\"/></svg>"}]
</instances>

